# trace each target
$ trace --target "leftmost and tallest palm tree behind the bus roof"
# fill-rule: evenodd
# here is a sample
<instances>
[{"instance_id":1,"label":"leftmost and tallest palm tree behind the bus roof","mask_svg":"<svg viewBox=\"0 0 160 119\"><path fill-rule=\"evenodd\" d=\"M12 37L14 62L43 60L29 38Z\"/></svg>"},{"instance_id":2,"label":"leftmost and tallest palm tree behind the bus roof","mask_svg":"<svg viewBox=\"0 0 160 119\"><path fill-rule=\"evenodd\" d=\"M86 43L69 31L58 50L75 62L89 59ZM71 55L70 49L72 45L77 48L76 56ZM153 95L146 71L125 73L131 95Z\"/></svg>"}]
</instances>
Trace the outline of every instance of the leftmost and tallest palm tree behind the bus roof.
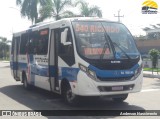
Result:
<instances>
[{"instance_id":1,"label":"leftmost and tallest palm tree behind the bus roof","mask_svg":"<svg viewBox=\"0 0 160 119\"><path fill-rule=\"evenodd\" d=\"M21 7L22 17L28 17L32 24L40 21L38 19L38 7L50 2L51 0L16 0L16 4Z\"/></svg>"}]
</instances>

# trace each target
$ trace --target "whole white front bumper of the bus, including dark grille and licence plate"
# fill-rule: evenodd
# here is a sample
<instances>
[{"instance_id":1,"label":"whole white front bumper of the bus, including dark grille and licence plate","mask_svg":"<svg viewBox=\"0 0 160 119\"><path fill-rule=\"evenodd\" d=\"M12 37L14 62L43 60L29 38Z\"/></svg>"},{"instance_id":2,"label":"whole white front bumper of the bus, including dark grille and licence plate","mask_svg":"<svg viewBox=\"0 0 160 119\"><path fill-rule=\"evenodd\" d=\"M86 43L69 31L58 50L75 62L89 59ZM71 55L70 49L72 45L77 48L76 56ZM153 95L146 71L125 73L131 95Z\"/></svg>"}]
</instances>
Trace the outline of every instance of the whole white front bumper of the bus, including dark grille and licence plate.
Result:
<instances>
[{"instance_id":1,"label":"whole white front bumper of the bus, including dark grille and licence plate","mask_svg":"<svg viewBox=\"0 0 160 119\"><path fill-rule=\"evenodd\" d=\"M83 78L82 78L83 77ZM78 75L77 82L71 83L74 94L80 96L110 96L140 92L143 74L132 81L94 81L84 73ZM73 86L74 85L74 86Z\"/></svg>"}]
</instances>

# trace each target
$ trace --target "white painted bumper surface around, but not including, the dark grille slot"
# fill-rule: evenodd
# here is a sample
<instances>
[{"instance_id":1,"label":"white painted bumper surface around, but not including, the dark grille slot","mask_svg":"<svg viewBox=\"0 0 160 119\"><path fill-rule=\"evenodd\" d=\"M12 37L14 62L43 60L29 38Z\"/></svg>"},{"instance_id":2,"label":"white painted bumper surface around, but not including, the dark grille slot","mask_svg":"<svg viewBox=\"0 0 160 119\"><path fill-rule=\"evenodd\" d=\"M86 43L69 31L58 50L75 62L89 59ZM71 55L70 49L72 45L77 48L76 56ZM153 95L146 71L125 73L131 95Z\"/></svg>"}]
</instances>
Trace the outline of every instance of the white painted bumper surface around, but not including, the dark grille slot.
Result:
<instances>
[{"instance_id":1,"label":"white painted bumper surface around, but not including, the dark grille slot","mask_svg":"<svg viewBox=\"0 0 160 119\"><path fill-rule=\"evenodd\" d=\"M83 77L82 77L83 76ZM78 76L78 83L76 84L78 91L74 90L73 92L77 95L81 96L105 96L105 95L117 95L117 94L128 94L128 93L135 93L139 92L142 88L142 82L143 82L143 75L141 74L136 80L133 81L126 81L126 82L95 82L92 79L88 78L86 74L81 72ZM72 84L73 85L73 84ZM98 90L98 86L102 87L118 87L118 86L130 86L134 85L134 88L132 90L126 90L126 91L104 91L101 92Z\"/></svg>"}]
</instances>

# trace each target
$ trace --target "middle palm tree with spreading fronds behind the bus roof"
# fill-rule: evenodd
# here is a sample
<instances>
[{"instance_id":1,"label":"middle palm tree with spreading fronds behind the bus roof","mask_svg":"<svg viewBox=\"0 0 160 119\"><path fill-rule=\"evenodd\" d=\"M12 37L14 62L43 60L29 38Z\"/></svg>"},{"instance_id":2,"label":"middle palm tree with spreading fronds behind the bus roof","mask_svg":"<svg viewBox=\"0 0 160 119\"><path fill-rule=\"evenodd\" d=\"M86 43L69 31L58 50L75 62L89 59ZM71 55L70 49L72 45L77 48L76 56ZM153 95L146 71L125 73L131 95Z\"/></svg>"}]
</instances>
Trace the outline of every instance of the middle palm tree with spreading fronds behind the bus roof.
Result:
<instances>
[{"instance_id":1,"label":"middle palm tree with spreading fronds behind the bus roof","mask_svg":"<svg viewBox=\"0 0 160 119\"><path fill-rule=\"evenodd\" d=\"M40 9L40 19L54 17L55 20L61 18L74 16L74 13L67 10L68 7L72 7L71 0L52 0L52 2L42 6Z\"/></svg>"}]
</instances>

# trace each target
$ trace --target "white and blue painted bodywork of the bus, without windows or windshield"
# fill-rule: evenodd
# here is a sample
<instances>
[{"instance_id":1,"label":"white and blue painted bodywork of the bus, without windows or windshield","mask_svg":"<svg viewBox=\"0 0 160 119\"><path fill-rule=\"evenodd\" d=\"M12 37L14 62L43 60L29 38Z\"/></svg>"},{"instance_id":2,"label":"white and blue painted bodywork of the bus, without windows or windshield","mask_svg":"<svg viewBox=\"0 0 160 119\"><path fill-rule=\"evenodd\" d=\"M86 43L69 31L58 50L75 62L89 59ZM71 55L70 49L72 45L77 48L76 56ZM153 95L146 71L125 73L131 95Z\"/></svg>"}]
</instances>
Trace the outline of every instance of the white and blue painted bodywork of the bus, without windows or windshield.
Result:
<instances>
[{"instance_id":1,"label":"white and blue painted bodywork of the bus, without windows or windshield","mask_svg":"<svg viewBox=\"0 0 160 119\"><path fill-rule=\"evenodd\" d=\"M118 95L118 94L139 92L142 87L142 79L143 79L142 71L140 72L137 78L128 81L107 81L107 80L95 81L95 79L93 79L93 77L90 77L88 73L82 71L82 69L80 68L80 64L84 65L87 68L87 70L93 70L97 76L103 75L102 77L106 78L116 77L112 74L113 73L112 70L102 70L95 66L94 68L89 62L87 62L87 60L83 59L80 56L78 48L76 47L77 43L76 43L75 31L74 28L72 27L71 21L72 20L67 19L67 20L56 21L53 23L51 22L44 26L43 25L36 26L28 29L28 31L26 30L17 33L18 36L21 36L24 33L32 34L33 32L36 31L40 33L40 31L43 29L48 29L49 32L47 54L45 55L28 54L28 53L16 54L18 58L17 61L18 68L16 70L18 72L21 82L23 82L23 73L25 73L29 84L45 90L58 93L61 93L62 90L61 83L65 79L69 81L72 92L76 95L81 95L81 96L105 96L105 95ZM97 20L92 19L91 21L97 21ZM65 29L66 27L69 28L72 37L72 45L75 58L75 62L72 65L68 64L67 61L65 61L62 56L56 54L57 41L55 41L56 39L55 35L56 33L59 33L60 30ZM29 37L31 36L29 35ZM13 65L16 62L12 57L11 57L11 72L12 74L14 74ZM132 71L132 73L134 73L139 67L141 67L141 64L142 61L140 58L137 64L135 64L130 69L123 69L123 71ZM117 71L120 72L121 70ZM122 75L119 75L120 78L121 76ZM129 75L125 76L127 77ZM118 78L118 76L116 78ZM114 87L119 89L114 90ZM121 89L125 87L127 87L128 89L126 90Z\"/></svg>"}]
</instances>

